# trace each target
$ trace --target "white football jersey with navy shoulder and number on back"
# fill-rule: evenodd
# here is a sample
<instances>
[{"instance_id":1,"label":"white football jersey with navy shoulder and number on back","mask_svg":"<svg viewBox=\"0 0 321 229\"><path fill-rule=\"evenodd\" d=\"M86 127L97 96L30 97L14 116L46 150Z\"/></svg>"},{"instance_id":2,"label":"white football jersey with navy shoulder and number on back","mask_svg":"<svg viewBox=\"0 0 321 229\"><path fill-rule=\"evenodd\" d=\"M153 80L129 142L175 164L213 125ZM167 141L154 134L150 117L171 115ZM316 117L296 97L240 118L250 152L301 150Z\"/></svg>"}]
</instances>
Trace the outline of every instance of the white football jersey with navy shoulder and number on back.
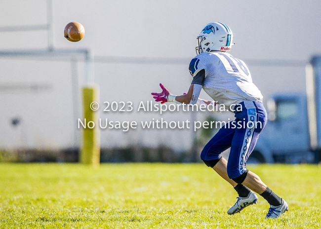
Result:
<instances>
[{"instance_id":1,"label":"white football jersey with navy shoulder and number on back","mask_svg":"<svg viewBox=\"0 0 321 229\"><path fill-rule=\"evenodd\" d=\"M234 56L219 51L203 52L191 61L189 70L194 77L202 69L205 70L205 78L196 83L201 84L203 90L219 104L229 107L242 101L263 101L247 66Z\"/></svg>"}]
</instances>

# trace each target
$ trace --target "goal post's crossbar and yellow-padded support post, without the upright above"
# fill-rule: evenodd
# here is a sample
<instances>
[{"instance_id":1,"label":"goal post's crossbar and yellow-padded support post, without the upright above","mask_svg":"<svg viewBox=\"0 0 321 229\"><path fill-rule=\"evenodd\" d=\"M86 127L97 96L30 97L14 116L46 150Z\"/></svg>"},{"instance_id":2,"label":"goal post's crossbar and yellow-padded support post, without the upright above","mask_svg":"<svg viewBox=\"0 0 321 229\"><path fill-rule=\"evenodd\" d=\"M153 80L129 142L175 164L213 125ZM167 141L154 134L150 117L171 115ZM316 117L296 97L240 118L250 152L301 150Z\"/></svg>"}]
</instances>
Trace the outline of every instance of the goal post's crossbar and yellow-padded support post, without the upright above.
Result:
<instances>
[{"instance_id":1,"label":"goal post's crossbar and yellow-padded support post, without the upright above","mask_svg":"<svg viewBox=\"0 0 321 229\"><path fill-rule=\"evenodd\" d=\"M0 57L66 57L70 61L77 61L79 57L85 61L85 84L81 88L82 94L82 121L86 123L93 121L95 127L82 129L79 162L90 164L94 167L99 166L100 162L100 129L99 111L92 111L90 104L99 103L99 85L94 84L93 54L87 49L53 49L53 50L6 50L0 51ZM77 58L75 58L77 57ZM75 120L77 123L78 120ZM90 125L91 127L91 125ZM76 128L76 124L75 124Z\"/></svg>"}]
</instances>

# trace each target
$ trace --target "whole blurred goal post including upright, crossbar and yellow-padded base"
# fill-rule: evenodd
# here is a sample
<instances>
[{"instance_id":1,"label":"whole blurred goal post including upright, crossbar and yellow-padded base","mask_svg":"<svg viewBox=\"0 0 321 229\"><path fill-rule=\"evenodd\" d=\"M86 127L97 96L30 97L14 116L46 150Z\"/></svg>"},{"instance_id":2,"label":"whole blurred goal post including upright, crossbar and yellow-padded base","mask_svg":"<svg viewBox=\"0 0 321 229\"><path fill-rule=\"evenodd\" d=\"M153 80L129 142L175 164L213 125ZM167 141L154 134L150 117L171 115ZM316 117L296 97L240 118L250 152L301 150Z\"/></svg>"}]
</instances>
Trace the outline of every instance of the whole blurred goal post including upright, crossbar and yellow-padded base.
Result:
<instances>
[{"instance_id":1,"label":"whole blurred goal post including upright, crossbar and yellow-padded base","mask_svg":"<svg viewBox=\"0 0 321 229\"><path fill-rule=\"evenodd\" d=\"M14 32L14 31L47 31L47 50L33 49L33 50L3 50L0 51L0 57L67 57L70 61L76 61L78 56L85 59L85 85L81 89L82 94L82 111L83 119L93 121L95 127L90 129L86 126L81 132L81 143L79 162L83 164L91 164L98 166L100 163L100 130L99 130L99 111L92 111L90 104L92 102L99 103L99 85L94 84L94 62L93 52L88 49L56 49L54 42L54 14L53 14L54 0L46 0L47 23L35 26L4 26L0 27L0 32ZM73 67L72 67L73 68ZM71 74L72 75L72 74ZM74 95L73 95L74 96ZM75 104L74 104L75 106ZM74 109L74 113L76 113ZM74 117L77 114L74 114ZM77 123L78 120L75 120ZM75 125L76 128L76 125ZM75 139L76 141L76 139Z\"/></svg>"}]
</instances>

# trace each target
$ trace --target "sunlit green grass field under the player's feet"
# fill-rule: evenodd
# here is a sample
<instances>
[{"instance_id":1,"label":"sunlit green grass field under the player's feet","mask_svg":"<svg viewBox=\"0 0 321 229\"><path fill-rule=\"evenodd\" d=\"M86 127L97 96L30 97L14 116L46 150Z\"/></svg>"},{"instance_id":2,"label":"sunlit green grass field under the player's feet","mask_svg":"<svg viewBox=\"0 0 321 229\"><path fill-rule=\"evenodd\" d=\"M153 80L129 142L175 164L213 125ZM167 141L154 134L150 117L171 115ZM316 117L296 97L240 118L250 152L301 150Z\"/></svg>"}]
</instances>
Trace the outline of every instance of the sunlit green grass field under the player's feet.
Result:
<instances>
[{"instance_id":1,"label":"sunlit green grass field under the player's feet","mask_svg":"<svg viewBox=\"0 0 321 229\"><path fill-rule=\"evenodd\" d=\"M321 167L252 165L289 204L226 211L234 189L204 164L0 163L1 228L321 228Z\"/></svg>"}]
</instances>

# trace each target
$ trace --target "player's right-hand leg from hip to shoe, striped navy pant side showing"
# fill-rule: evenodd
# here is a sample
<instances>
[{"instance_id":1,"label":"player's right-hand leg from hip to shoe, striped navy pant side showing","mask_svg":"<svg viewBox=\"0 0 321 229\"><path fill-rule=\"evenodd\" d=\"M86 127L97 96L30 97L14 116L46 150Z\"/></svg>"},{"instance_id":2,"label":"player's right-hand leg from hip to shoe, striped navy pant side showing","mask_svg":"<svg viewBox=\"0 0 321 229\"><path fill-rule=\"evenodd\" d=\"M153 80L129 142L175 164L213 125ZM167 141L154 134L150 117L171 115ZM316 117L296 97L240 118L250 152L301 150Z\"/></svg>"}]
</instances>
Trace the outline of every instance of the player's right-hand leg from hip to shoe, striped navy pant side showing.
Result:
<instances>
[{"instance_id":1,"label":"player's right-hand leg from hip to shoe, striped navy pant side showing","mask_svg":"<svg viewBox=\"0 0 321 229\"><path fill-rule=\"evenodd\" d=\"M227 167L228 176L236 183L245 185L265 198L271 205L267 218L277 218L287 210L286 202L271 191L259 176L245 167L246 160L266 125L266 111L263 104L254 103L254 106L255 110L251 107L248 108L249 111L245 109L247 118L243 117L243 120L246 122L246 128L239 128L235 131ZM247 125L248 121L258 125Z\"/></svg>"}]
</instances>

